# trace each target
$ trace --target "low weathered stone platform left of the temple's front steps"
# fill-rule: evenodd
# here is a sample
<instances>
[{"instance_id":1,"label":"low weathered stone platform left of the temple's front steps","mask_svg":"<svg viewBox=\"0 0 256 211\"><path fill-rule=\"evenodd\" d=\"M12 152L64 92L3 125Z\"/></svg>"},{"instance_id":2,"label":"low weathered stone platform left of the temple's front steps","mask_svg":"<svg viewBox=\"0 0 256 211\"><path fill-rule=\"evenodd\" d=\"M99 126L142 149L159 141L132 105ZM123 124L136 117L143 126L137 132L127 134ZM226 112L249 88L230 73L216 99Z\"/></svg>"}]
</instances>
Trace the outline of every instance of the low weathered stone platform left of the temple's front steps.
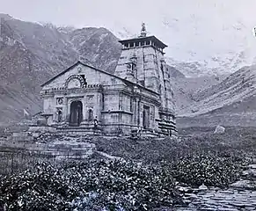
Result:
<instances>
[{"instance_id":1,"label":"low weathered stone platform left of the temple's front steps","mask_svg":"<svg viewBox=\"0 0 256 211\"><path fill-rule=\"evenodd\" d=\"M96 150L95 145L88 142L89 139L88 135L22 132L0 142L0 146L52 156L57 160L84 159Z\"/></svg>"}]
</instances>

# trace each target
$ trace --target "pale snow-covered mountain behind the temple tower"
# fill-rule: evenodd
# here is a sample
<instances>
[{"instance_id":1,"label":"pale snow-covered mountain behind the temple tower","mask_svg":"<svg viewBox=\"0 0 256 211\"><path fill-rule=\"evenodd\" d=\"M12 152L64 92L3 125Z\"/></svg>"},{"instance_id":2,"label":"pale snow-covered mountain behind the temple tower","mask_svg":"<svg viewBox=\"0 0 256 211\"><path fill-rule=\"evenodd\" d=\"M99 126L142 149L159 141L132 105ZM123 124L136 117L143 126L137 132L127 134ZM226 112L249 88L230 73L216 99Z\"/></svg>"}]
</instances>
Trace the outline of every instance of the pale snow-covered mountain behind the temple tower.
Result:
<instances>
[{"instance_id":1,"label":"pale snow-covered mountain behind the temple tower","mask_svg":"<svg viewBox=\"0 0 256 211\"><path fill-rule=\"evenodd\" d=\"M175 29L170 25L168 25L167 28L170 34L172 34L172 31ZM235 28L232 30L235 30L234 33L236 33L238 29ZM113 29L112 31L121 39L129 39L138 36L138 33L131 33L125 27ZM244 31L246 32L245 36L248 36L247 38L244 38L244 43L238 45L234 39L234 43L231 43L230 45L238 46L230 47L228 52L223 50L219 55L212 55L210 53L208 53L208 55L203 55L203 53L201 53L202 55L199 55L199 52L202 51L201 48L194 48L194 50L191 50L188 46L184 46L182 49L179 47L178 49L176 47L179 45L177 40L173 41L168 40L167 38L163 40L169 45L169 47L165 49L165 60L168 64L179 69L180 72L189 77L231 74L244 66L256 63L256 38L253 36L252 29L249 31L248 28L244 28ZM250 33L248 33L248 31ZM168 37L168 35L166 35L166 37ZM213 42L213 40L211 40L211 42ZM219 44L217 41L214 43L216 43L216 45ZM180 44L180 46L183 45L183 43ZM180 52L181 50L182 53ZM181 55L177 55L177 52Z\"/></svg>"}]
</instances>

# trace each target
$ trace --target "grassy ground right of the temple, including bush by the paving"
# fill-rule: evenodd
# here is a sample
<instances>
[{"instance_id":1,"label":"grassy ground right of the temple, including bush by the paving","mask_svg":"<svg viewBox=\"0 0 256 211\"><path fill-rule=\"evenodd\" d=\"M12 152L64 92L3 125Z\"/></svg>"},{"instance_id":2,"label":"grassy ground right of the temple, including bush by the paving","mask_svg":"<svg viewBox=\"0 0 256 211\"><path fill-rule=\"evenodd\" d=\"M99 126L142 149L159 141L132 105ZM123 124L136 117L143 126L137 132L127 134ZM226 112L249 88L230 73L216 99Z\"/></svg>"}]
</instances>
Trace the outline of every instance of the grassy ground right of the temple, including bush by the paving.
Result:
<instances>
[{"instance_id":1,"label":"grassy ground right of the temple, including bush by the paving","mask_svg":"<svg viewBox=\"0 0 256 211\"><path fill-rule=\"evenodd\" d=\"M193 132L193 133L192 133ZM98 150L126 160L168 166L179 182L190 186L228 186L240 177L242 166L255 156L254 127L227 127L215 135L212 127L180 129L177 140L96 138Z\"/></svg>"}]
</instances>

